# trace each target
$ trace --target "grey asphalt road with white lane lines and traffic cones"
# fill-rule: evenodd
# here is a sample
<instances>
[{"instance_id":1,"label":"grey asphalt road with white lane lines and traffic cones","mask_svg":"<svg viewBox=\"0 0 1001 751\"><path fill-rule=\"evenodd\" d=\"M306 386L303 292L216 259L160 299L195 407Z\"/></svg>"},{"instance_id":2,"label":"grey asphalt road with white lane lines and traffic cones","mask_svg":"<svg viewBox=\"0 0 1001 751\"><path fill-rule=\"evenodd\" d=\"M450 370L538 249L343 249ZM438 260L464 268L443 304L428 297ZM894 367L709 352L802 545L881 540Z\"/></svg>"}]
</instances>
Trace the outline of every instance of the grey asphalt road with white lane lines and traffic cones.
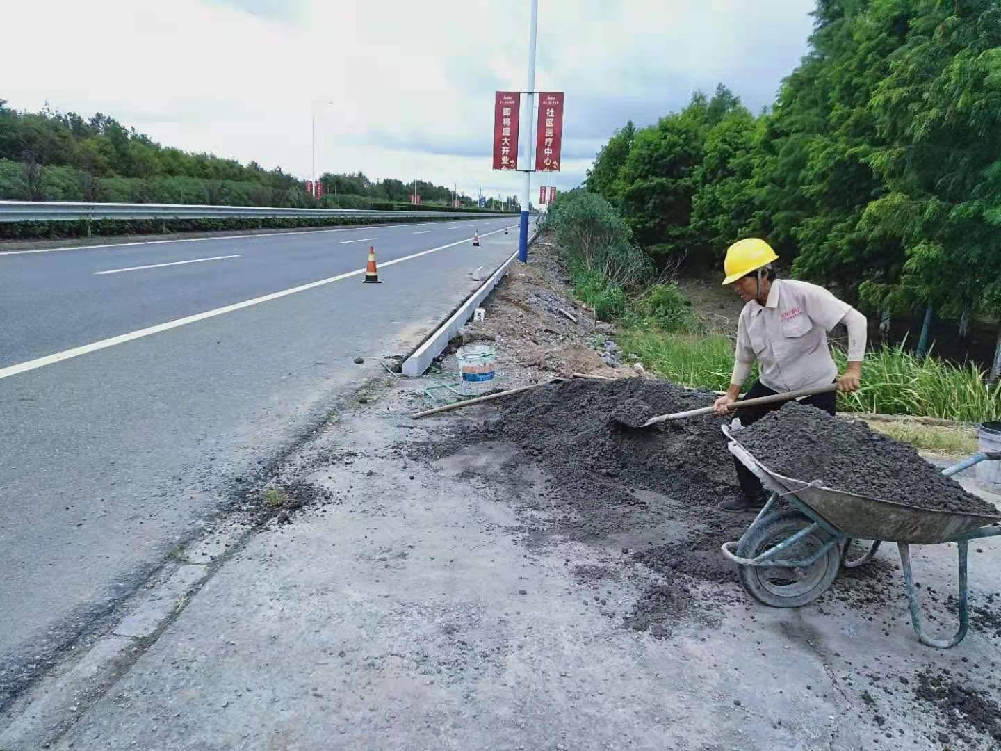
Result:
<instances>
[{"instance_id":1,"label":"grey asphalt road with white lane lines and traffic cones","mask_svg":"<svg viewBox=\"0 0 1001 751\"><path fill-rule=\"evenodd\" d=\"M415 347L517 249L512 223L0 253L0 706ZM360 283L369 245L381 284Z\"/></svg>"}]
</instances>

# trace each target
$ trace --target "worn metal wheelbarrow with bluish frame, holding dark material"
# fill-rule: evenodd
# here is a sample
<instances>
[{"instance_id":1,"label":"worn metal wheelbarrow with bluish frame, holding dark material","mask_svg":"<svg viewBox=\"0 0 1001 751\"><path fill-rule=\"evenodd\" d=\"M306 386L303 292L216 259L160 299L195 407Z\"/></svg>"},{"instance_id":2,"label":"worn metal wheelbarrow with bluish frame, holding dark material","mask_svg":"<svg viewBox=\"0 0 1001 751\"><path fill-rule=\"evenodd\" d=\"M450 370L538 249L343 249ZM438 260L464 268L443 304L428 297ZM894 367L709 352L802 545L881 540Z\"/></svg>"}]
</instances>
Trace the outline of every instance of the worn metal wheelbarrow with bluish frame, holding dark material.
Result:
<instances>
[{"instance_id":1,"label":"worn metal wheelbarrow with bluish frame, holding dark material","mask_svg":"<svg viewBox=\"0 0 1001 751\"><path fill-rule=\"evenodd\" d=\"M896 543L904 569L911 624L922 644L955 647L970 624L967 553L970 540L1001 535L1001 514L966 514L921 509L827 488L773 472L741 446L723 427L730 452L761 480L771 497L737 542L724 543L723 554L739 565L744 589L764 605L799 608L814 602L834 583L842 566L856 568L872 560L884 542ZM1001 453L981 453L943 470L949 477ZM790 508L777 509L780 499ZM853 540L870 541L866 553L848 560ZM959 630L951 639L933 639L922 628L921 604L911 572L911 544L956 543L959 557Z\"/></svg>"}]
</instances>

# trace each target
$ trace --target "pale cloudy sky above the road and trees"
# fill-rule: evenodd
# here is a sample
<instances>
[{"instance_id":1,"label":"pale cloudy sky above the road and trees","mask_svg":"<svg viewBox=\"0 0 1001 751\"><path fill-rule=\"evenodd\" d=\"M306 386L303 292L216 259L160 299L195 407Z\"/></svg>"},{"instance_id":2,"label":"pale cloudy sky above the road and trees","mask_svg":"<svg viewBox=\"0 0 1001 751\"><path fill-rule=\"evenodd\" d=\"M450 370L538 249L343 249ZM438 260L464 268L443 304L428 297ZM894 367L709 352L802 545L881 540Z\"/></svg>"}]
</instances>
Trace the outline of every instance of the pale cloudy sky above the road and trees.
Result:
<instances>
[{"instance_id":1,"label":"pale cloudy sky above the road and trees","mask_svg":"<svg viewBox=\"0 0 1001 751\"><path fill-rule=\"evenodd\" d=\"M563 172L728 84L770 104L813 0L540 0L536 89L565 91ZM490 169L494 90L526 86L529 0L5 0L0 98L100 111L164 145L316 171L521 193ZM327 102L333 102L327 104Z\"/></svg>"}]
</instances>

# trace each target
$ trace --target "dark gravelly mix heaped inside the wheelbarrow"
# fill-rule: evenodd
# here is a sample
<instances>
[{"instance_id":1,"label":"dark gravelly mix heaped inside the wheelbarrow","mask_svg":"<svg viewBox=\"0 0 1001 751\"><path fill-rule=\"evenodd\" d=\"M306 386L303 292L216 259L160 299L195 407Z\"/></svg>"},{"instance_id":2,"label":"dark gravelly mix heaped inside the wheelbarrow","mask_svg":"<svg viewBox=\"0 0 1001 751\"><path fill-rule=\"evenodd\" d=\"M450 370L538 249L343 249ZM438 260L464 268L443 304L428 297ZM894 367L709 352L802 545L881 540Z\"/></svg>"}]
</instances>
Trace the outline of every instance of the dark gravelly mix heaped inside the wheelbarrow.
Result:
<instances>
[{"instance_id":1,"label":"dark gravelly mix heaped inside the wheelbarrow","mask_svg":"<svg viewBox=\"0 0 1001 751\"><path fill-rule=\"evenodd\" d=\"M922 509L996 516L923 460L914 447L791 402L735 438L770 470L830 488Z\"/></svg>"}]
</instances>

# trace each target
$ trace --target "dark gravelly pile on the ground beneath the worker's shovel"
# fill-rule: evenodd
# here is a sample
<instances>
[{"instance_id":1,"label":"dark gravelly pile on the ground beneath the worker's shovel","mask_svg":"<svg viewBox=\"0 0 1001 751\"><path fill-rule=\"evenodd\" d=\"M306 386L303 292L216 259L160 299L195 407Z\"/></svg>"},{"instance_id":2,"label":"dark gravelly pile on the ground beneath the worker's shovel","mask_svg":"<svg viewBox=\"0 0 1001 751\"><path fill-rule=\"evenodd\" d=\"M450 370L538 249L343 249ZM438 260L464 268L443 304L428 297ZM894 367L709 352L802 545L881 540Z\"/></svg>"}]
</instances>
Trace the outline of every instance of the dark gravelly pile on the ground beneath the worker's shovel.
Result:
<instances>
[{"instance_id":1,"label":"dark gravelly pile on the ground beneath the worker's shovel","mask_svg":"<svg viewBox=\"0 0 1001 751\"><path fill-rule=\"evenodd\" d=\"M485 422L460 425L449 437L435 435L421 453L436 459L473 444L514 447L514 459L504 468L511 478L505 495L521 500L526 510L525 542L574 540L608 550L612 541L622 541L613 549L621 550L624 562L661 577L644 589L623 625L667 637L682 622L711 618L709 599L724 597L717 592L697 598L694 585L736 586L720 546L739 539L749 520L715 508L738 492L719 418L644 431L623 428L615 419L643 422L715 399L711 392L645 379L570 381L490 403ZM530 465L545 470L545 487L535 494L525 493L517 480ZM576 575L589 586L609 573L579 567Z\"/></svg>"}]
</instances>

